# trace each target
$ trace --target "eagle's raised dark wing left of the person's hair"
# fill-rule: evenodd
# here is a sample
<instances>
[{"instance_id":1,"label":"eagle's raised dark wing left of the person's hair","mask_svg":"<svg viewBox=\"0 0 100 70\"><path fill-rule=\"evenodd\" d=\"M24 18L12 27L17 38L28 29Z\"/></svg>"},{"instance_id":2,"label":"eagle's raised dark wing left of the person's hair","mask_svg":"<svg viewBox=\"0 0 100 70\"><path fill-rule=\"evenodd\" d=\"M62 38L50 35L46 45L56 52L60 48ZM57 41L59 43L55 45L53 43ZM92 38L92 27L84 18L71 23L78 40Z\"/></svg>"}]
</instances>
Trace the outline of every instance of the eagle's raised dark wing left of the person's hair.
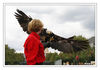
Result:
<instances>
[{"instance_id":1,"label":"eagle's raised dark wing left of the person's hair","mask_svg":"<svg viewBox=\"0 0 100 70\"><path fill-rule=\"evenodd\" d=\"M15 12L15 16L20 26L23 28L23 31L29 34L27 27L28 27L28 23L32 20L32 18L28 17L24 12L22 12L19 9L17 9L17 12Z\"/></svg>"}]
</instances>

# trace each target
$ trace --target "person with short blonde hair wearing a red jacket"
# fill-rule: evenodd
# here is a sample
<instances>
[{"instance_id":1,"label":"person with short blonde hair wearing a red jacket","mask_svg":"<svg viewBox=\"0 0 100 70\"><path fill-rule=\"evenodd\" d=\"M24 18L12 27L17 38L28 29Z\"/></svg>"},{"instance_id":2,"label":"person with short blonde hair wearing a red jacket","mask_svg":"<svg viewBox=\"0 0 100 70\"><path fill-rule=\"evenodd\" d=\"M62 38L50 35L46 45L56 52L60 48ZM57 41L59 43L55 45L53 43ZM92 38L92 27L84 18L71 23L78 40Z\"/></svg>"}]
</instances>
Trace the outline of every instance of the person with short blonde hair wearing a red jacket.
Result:
<instances>
[{"instance_id":1,"label":"person with short blonde hair wearing a red jacket","mask_svg":"<svg viewBox=\"0 0 100 70\"><path fill-rule=\"evenodd\" d=\"M24 54L27 65L38 65L45 61L44 46L40 42L41 30L43 24L38 19L33 19L28 24L28 31L30 35L24 43Z\"/></svg>"}]
</instances>

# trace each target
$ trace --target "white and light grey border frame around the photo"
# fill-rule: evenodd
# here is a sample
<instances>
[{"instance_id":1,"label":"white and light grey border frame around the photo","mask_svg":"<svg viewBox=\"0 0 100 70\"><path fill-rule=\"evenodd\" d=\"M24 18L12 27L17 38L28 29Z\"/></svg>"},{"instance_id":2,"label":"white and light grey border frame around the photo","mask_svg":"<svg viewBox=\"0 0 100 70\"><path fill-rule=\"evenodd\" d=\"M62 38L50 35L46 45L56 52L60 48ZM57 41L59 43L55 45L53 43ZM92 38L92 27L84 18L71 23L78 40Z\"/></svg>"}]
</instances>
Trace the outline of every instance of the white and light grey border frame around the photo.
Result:
<instances>
[{"instance_id":1,"label":"white and light grey border frame around the photo","mask_svg":"<svg viewBox=\"0 0 100 70\"><path fill-rule=\"evenodd\" d=\"M20 4L20 5L26 5L26 4L30 4L30 5L32 5L33 6L33 4L34 4L34 6L36 6L36 5L40 5L40 4L45 4L45 6L46 5L48 5L48 4L52 4L52 5L58 5L58 4L63 4L63 6L65 6L66 4L68 4L68 5L71 5L71 4L81 4L81 5L83 5L83 4L90 4L90 3L4 3L3 4L3 12L6 10L6 9L4 9L5 8L5 6L7 6L7 5L18 5L18 4ZM96 4L96 3L91 3L91 4ZM96 52L95 52L95 54L97 54L97 42L96 42L96 39L97 39L97 37L96 37L96 34L97 34L97 32L96 32L96 27L97 27L97 4L96 4L96 13L95 13L95 50L96 50ZM3 13L3 19L5 19L5 12ZM5 25L5 21L3 20L3 24ZM4 25L3 25L3 27L4 27ZM4 27L4 29L3 30L5 30L5 27ZM5 36L5 33L3 32L3 34L4 34L4 36ZM3 44L3 46L5 46L5 37L3 37L3 40L4 40L4 44ZM4 50L4 49L3 49ZM4 51L5 52L5 51ZM97 67L97 55L95 56L96 58L96 66L94 66L94 65L89 65L89 66L87 66L87 65L70 65L70 66L65 66L65 65L56 65L56 66L61 66L61 67ZM3 58L3 59L5 59L5 58ZM4 61L4 63L5 63L5 61ZM5 66L5 64L3 65L4 67L26 67L26 66L28 66L28 67L30 67L29 65L7 65L7 66ZM44 66L44 65L42 65L42 66ZM51 67L52 65L50 65L50 67ZM55 66L55 65L53 65L53 66ZM33 66L34 67L34 66ZM48 67L48 65L46 65L46 67Z\"/></svg>"}]
</instances>

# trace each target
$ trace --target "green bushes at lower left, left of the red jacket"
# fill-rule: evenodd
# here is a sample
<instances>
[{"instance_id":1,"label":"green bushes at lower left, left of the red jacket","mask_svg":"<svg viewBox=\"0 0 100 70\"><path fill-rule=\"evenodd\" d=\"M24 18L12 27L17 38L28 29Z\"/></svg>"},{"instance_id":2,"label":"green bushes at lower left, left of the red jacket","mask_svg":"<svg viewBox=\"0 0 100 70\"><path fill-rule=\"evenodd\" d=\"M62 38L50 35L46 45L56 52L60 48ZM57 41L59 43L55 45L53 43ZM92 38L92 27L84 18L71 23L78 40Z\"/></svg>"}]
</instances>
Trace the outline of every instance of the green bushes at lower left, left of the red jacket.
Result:
<instances>
[{"instance_id":1,"label":"green bushes at lower left, left of the red jacket","mask_svg":"<svg viewBox=\"0 0 100 70\"><path fill-rule=\"evenodd\" d=\"M24 56L22 53L15 53L14 49L5 45L5 64L6 65L19 65L24 61Z\"/></svg>"}]
</instances>

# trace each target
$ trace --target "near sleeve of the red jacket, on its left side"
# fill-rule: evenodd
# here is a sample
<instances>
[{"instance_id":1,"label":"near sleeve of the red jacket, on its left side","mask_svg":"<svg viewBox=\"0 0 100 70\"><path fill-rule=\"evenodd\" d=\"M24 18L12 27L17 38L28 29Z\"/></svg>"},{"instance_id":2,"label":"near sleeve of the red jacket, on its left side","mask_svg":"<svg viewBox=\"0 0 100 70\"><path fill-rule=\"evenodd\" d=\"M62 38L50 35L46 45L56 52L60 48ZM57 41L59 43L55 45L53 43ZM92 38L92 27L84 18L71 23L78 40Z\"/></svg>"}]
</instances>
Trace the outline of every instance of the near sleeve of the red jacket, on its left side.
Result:
<instances>
[{"instance_id":1,"label":"near sleeve of the red jacket, on its left side","mask_svg":"<svg viewBox=\"0 0 100 70\"><path fill-rule=\"evenodd\" d=\"M26 47L25 47L25 56L27 62L33 62L35 64L35 58L37 56L39 50L39 41L29 38L26 42Z\"/></svg>"}]
</instances>

